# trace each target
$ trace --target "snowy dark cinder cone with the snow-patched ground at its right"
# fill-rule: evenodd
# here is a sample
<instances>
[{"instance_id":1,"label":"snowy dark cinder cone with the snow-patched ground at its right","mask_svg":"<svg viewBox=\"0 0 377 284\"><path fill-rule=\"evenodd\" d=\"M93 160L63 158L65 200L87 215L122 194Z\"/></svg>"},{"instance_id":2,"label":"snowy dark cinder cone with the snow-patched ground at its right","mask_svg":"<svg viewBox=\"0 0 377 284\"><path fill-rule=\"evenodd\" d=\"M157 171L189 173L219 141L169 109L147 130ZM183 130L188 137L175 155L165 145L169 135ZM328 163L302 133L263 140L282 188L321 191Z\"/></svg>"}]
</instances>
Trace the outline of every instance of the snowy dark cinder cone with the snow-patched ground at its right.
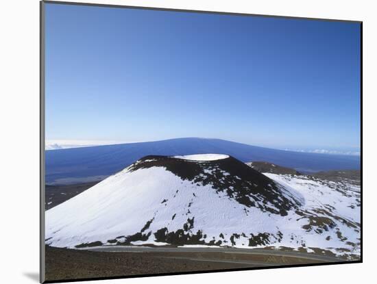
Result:
<instances>
[{"instance_id":1,"label":"snowy dark cinder cone with the snow-patched ground at its right","mask_svg":"<svg viewBox=\"0 0 377 284\"><path fill-rule=\"evenodd\" d=\"M288 247L360 253L360 192L263 175L227 155L143 157L46 211L45 242Z\"/></svg>"}]
</instances>

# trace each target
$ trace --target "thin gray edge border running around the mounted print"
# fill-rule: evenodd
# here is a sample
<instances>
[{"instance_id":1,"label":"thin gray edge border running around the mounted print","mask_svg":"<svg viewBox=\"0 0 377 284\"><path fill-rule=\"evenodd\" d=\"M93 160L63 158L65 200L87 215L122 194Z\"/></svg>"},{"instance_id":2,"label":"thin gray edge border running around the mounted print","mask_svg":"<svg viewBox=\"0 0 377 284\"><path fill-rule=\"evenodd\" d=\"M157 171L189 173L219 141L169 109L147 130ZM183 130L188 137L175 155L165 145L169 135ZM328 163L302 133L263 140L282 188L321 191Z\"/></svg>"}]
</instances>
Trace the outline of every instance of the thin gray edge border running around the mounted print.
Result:
<instances>
[{"instance_id":1,"label":"thin gray edge border running around the mounted print","mask_svg":"<svg viewBox=\"0 0 377 284\"><path fill-rule=\"evenodd\" d=\"M69 280L56 280L46 281L45 279L45 4L59 4L59 5L81 5L81 6L95 6L106 8L127 8L135 10L156 10L156 11L170 11L170 12L191 12L201 14L223 14L234 16L258 16L267 18L287 18L295 20L309 20L309 21L330 21L330 22L346 22L346 23L359 23L360 24L360 110L361 110L361 133L360 133L360 145L361 145L361 254L358 261L339 261L332 263L307 263L297 265L284 265L284 266L272 266L272 267L257 267L257 268L234 268L226 270L206 270L206 271L192 271L192 272L172 272L162 274L141 274L141 275L128 275L128 276L109 276L98 277L88 279L69 279ZM168 275L184 275L184 274L203 274L213 272L233 272L233 271L250 271L250 270L268 270L278 268L300 268L308 266L331 266L337 264L352 264L363 263L363 21L354 20L341 20L331 18L308 18L299 16L276 16L266 14L246 14L239 12L215 12L204 10L184 10L174 8L155 8L155 7L143 7L143 6L130 6L130 5L114 5L114 4L100 4L100 3L80 3L80 2L68 2L68 1L40 1L40 283L62 283L62 282L76 282L76 281L95 281L95 280L110 280L110 279L130 279L141 278L150 276L168 276Z\"/></svg>"}]
</instances>

